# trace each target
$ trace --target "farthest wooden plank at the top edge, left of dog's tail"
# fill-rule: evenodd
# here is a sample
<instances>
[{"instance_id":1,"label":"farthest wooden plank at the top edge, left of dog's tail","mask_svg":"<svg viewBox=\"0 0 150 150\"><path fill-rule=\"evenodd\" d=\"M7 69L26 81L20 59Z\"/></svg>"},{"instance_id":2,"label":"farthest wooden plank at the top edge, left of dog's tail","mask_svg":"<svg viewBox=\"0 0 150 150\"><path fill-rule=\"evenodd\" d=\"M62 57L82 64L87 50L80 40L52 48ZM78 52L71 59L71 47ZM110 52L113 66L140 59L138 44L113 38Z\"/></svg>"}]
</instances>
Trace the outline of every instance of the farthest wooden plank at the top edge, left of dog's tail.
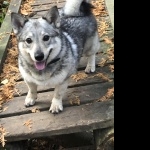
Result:
<instances>
[{"instance_id":1,"label":"farthest wooden plank at the top edge, left of dog's tail","mask_svg":"<svg viewBox=\"0 0 150 150\"><path fill-rule=\"evenodd\" d=\"M34 0L34 3L31 4L31 6L36 6L36 5L42 5L42 4L55 4L55 3L62 3L62 2L66 2L66 0Z\"/></svg>"}]
</instances>

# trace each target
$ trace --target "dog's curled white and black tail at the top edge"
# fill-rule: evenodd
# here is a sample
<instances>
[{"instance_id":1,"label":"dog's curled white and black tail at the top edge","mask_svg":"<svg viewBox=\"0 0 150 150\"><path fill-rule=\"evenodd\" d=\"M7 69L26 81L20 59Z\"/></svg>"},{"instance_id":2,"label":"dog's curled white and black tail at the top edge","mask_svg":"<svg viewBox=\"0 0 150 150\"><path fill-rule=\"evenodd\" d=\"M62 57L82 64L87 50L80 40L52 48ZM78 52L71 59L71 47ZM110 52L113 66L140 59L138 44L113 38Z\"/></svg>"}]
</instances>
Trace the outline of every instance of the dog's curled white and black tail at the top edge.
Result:
<instances>
[{"instance_id":1,"label":"dog's curled white and black tail at the top edge","mask_svg":"<svg viewBox=\"0 0 150 150\"><path fill-rule=\"evenodd\" d=\"M79 15L81 11L87 13L92 6L90 2L91 0L66 0L64 15L76 16Z\"/></svg>"}]
</instances>

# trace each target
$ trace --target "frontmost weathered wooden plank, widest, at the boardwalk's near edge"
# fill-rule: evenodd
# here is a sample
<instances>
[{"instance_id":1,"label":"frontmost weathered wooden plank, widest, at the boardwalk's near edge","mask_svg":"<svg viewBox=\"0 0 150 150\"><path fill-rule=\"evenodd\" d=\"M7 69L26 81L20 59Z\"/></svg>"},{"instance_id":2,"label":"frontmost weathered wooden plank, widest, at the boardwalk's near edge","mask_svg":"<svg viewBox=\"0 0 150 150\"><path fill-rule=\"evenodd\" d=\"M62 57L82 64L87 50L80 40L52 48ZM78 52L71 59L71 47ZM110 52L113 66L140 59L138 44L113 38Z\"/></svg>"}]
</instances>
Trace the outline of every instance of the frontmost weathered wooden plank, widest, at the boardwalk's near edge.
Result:
<instances>
[{"instance_id":1,"label":"frontmost weathered wooden plank, widest, at the boardwalk's near edge","mask_svg":"<svg viewBox=\"0 0 150 150\"><path fill-rule=\"evenodd\" d=\"M31 128L23 125L31 120ZM48 111L2 118L7 141L83 132L113 126L114 101L67 107L58 115Z\"/></svg>"}]
</instances>

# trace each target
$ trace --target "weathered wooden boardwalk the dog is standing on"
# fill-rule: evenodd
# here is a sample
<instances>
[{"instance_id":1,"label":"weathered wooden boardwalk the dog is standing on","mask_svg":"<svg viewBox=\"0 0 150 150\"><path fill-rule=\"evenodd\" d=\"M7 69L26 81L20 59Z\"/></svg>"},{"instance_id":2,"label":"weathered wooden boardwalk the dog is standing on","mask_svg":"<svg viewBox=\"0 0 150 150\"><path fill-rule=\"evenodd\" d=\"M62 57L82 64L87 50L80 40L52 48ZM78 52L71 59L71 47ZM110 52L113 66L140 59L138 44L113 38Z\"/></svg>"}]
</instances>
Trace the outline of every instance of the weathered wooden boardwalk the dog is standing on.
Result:
<instances>
[{"instance_id":1,"label":"weathered wooden boardwalk the dog is standing on","mask_svg":"<svg viewBox=\"0 0 150 150\"><path fill-rule=\"evenodd\" d=\"M61 8L64 1L59 1L57 6ZM35 0L32 4L33 11L36 12L34 17L43 15L55 3L50 0ZM102 19L110 22L109 16ZM110 25L104 36L112 38L113 33ZM96 72L77 82L70 79L67 93L63 99L64 111L60 114L54 115L48 111L53 96L53 87L39 86L36 104L26 108L24 99L28 89L21 78L17 81L15 88L19 90L19 93L16 93L10 102L3 105L7 110L0 113L0 125L8 132L5 135L8 142L97 130L114 125L114 100L98 102L98 99L114 86L114 74L109 68L113 62L107 62L104 67L98 66L101 59L107 57L105 52L110 46L104 42L104 36L100 40L101 52L96 56ZM86 62L87 59L83 57L78 73L84 72ZM106 75L109 80L99 77L98 73ZM35 109L39 112L33 113L32 111Z\"/></svg>"}]
</instances>

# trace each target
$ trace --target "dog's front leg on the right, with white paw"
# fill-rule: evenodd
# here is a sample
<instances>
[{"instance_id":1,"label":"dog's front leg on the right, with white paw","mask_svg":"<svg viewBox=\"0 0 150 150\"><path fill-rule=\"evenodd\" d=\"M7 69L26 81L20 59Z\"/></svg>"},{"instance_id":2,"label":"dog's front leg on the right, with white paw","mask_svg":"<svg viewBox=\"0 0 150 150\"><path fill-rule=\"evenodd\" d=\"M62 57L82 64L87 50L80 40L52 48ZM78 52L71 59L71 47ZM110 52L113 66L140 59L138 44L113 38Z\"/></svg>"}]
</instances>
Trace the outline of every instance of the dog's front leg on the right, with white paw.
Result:
<instances>
[{"instance_id":1,"label":"dog's front leg on the right, with white paw","mask_svg":"<svg viewBox=\"0 0 150 150\"><path fill-rule=\"evenodd\" d=\"M68 87L68 81L65 81L62 84L57 85L55 87L52 104L49 109L50 112L59 113L60 111L63 111L62 98L67 90L67 87Z\"/></svg>"}]
</instances>

